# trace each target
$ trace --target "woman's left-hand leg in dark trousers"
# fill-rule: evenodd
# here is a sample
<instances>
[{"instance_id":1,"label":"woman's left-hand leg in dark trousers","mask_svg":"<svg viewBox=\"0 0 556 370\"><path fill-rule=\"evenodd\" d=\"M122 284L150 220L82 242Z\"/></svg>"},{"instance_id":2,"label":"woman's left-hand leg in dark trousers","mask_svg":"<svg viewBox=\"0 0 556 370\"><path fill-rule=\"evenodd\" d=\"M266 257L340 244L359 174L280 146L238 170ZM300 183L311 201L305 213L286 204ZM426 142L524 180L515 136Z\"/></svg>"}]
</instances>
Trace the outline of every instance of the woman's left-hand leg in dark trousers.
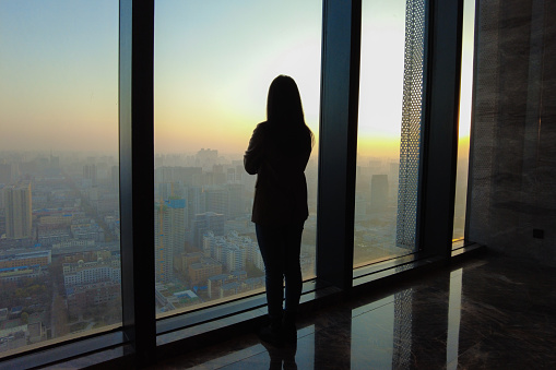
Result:
<instances>
[{"instance_id":1,"label":"woman's left-hand leg in dark trousers","mask_svg":"<svg viewBox=\"0 0 556 370\"><path fill-rule=\"evenodd\" d=\"M284 299L284 248L280 227L255 224L257 241L264 261L267 302L271 323L282 320L282 301Z\"/></svg>"}]
</instances>

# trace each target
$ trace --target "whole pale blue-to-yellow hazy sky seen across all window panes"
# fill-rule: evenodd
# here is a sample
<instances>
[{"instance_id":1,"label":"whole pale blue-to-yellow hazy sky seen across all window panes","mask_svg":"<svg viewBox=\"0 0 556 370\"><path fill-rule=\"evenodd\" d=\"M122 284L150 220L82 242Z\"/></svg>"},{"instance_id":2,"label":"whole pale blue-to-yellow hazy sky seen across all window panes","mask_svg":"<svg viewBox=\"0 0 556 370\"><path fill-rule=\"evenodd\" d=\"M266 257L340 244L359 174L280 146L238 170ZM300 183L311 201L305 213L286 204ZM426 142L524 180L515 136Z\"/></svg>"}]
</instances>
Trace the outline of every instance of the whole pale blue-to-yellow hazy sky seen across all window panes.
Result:
<instances>
[{"instance_id":1,"label":"whole pale blue-to-yellow hazy sky seen across all window panes","mask_svg":"<svg viewBox=\"0 0 556 370\"><path fill-rule=\"evenodd\" d=\"M397 155L404 7L364 1L362 154ZM320 0L156 1L156 151L241 153L281 73L318 134L321 12ZM117 151L117 0L0 1L0 127L2 150Z\"/></svg>"}]
</instances>

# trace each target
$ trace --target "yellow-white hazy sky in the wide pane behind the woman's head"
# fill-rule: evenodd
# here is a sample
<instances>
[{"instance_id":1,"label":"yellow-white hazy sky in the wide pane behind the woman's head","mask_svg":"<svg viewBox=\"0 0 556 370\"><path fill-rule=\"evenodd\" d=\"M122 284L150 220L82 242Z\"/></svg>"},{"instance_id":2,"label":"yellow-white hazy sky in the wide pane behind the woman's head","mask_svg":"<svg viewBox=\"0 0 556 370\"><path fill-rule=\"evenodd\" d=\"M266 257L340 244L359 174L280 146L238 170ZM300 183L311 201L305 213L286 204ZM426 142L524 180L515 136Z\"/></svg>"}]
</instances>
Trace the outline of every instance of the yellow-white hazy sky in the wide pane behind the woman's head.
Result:
<instances>
[{"instance_id":1,"label":"yellow-white hazy sky in the wide pane behind the woman's head","mask_svg":"<svg viewBox=\"0 0 556 370\"><path fill-rule=\"evenodd\" d=\"M166 0L155 12L157 151L242 153L279 74L296 80L318 131L320 0Z\"/></svg>"}]
</instances>

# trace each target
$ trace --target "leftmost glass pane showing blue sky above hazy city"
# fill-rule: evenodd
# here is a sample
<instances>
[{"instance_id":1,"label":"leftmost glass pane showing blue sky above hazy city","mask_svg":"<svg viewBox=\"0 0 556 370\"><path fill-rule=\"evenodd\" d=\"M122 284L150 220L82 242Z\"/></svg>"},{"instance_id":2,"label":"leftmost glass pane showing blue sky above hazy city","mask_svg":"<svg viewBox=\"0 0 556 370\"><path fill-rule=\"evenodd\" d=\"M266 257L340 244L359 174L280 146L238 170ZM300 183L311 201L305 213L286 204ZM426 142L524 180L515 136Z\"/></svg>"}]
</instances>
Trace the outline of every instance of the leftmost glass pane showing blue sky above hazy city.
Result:
<instances>
[{"instance_id":1,"label":"leftmost glass pane showing blue sky above hazy city","mask_svg":"<svg viewBox=\"0 0 556 370\"><path fill-rule=\"evenodd\" d=\"M0 2L0 357L121 323L118 1Z\"/></svg>"}]
</instances>

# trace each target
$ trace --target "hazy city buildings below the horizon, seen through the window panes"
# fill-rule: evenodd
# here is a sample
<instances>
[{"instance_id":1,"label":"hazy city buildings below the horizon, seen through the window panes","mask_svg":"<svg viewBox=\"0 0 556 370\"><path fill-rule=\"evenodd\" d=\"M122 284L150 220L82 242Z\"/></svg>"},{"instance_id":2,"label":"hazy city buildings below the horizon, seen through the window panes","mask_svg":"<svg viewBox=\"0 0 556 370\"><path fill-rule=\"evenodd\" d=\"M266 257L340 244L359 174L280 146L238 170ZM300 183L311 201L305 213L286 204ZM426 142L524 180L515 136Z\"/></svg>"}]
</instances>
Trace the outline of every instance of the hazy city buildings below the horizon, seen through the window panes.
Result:
<instances>
[{"instance_id":1,"label":"hazy city buildings below the horizon, seen through the window panes","mask_svg":"<svg viewBox=\"0 0 556 370\"><path fill-rule=\"evenodd\" d=\"M27 343L48 344L49 339L117 324L121 320L121 282L116 157L78 158L45 151L27 160L23 155L5 158L4 154L0 153L0 163L7 159L11 166L4 164L0 169L12 167L8 174L32 182L34 226L31 238L0 238L0 263L5 265L0 272L0 286L8 297L0 307L7 312L0 319L0 334L9 337L0 348L0 357L24 350ZM164 160L155 165L152 201L165 202L155 203L153 228L157 239L152 248L156 268L151 272L156 276L157 317L262 291L262 259L250 222L255 176L247 176L240 160L227 160L216 150L158 158ZM406 253L393 240L395 164L397 158L359 157L354 267ZM316 261L317 160L309 163L306 174L311 214L304 229L301 268L304 278L311 278ZM381 183L375 184L374 179ZM0 206L0 228L2 220L5 228L11 216L1 211ZM220 217L220 227L201 225L201 217L211 213ZM23 291L23 298L19 291ZM28 301L26 297L31 297ZM17 326L10 326L14 324Z\"/></svg>"}]
</instances>

